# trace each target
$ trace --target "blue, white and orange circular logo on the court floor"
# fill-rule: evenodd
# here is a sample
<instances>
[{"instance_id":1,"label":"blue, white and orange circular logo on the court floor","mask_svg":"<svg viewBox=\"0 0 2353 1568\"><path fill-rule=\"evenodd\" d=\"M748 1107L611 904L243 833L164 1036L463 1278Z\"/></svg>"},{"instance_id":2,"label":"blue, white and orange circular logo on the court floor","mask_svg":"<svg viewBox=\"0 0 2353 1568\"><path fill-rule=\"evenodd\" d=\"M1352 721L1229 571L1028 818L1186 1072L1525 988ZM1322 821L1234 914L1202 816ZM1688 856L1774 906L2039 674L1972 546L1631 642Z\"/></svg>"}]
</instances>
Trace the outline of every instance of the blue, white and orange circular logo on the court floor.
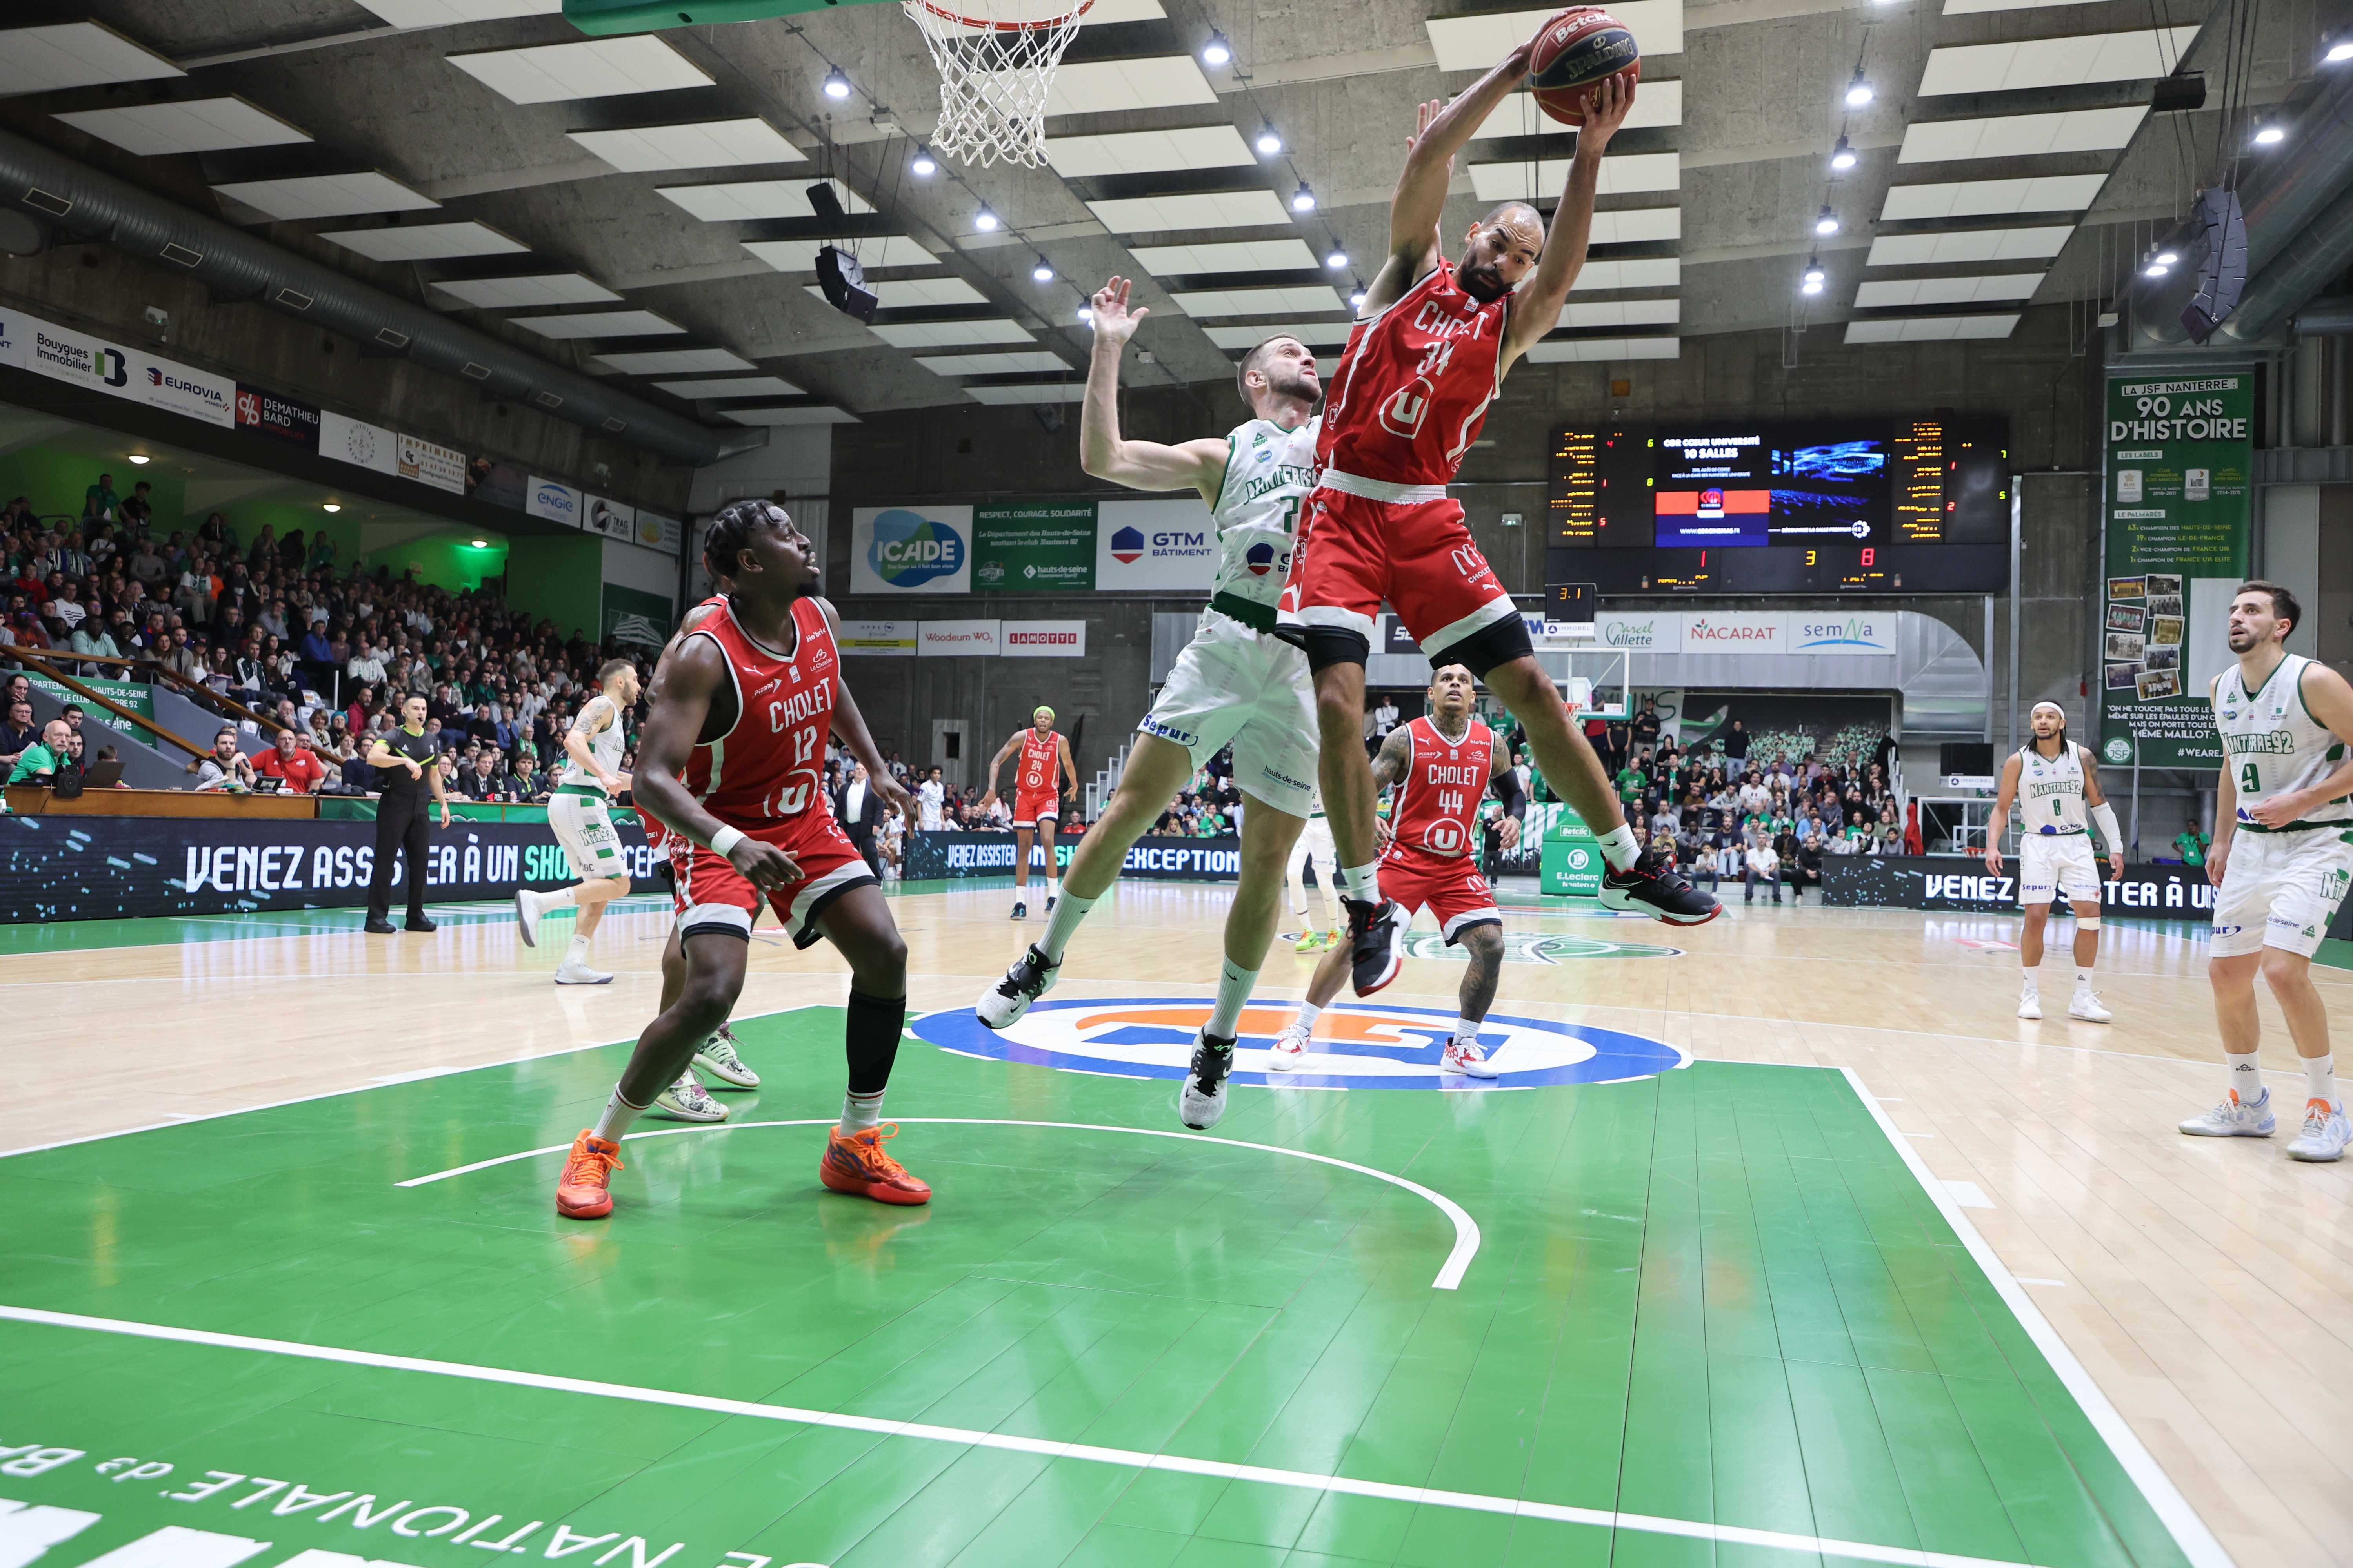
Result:
<instances>
[{"instance_id":1,"label":"blue, white and orange circular logo on the court floor","mask_svg":"<svg viewBox=\"0 0 2353 1568\"><path fill-rule=\"evenodd\" d=\"M1181 1079L1209 1004L1181 997L1040 1001L1016 1025L991 1032L969 1009L932 1013L915 1034L965 1056L1033 1063L1068 1072ZM1438 1072L1454 1025L1452 1011L1341 1004L1315 1020L1315 1039L1294 1072L1268 1072L1266 1051L1292 1020L1289 1006L1242 1011L1233 1081L1292 1088L1534 1088L1541 1084L1617 1084L1689 1063L1680 1048L1645 1034L1621 1034L1551 1018L1494 1013L1480 1041L1501 1067L1494 1084Z\"/></svg>"}]
</instances>

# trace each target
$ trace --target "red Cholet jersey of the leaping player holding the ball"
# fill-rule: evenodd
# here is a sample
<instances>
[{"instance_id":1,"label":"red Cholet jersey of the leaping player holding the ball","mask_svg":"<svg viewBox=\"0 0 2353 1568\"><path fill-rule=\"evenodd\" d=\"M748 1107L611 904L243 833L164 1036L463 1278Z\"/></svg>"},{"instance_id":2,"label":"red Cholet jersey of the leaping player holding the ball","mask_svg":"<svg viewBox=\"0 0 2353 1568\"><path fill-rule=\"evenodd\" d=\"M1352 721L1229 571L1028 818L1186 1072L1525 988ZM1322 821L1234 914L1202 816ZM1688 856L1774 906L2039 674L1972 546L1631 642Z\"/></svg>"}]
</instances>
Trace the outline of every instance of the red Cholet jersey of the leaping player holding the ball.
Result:
<instances>
[{"instance_id":1,"label":"red Cholet jersey of the leaping player holding the ball","mask_svg":"<svg viewBox=\"0 0 2353 1568\"><path fill-rule=\"evenodd\" d=\"M1449 484L1504 383L1511 296L1478 303L1454 263L1348 331L1315 461L1386 484Z\"/></svg>"}]
</instances>

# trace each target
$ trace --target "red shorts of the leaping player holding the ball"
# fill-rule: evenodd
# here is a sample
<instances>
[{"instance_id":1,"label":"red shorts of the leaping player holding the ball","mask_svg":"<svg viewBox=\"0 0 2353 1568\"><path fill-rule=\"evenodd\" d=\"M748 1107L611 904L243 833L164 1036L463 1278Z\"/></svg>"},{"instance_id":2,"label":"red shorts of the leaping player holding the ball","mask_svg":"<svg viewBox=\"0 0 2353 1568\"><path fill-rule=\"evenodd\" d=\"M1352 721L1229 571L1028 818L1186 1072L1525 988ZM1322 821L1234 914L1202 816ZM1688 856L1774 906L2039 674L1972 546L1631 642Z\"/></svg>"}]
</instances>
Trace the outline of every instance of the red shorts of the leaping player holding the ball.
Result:
<instances>
[{"instance_id":1,"label":"red shorts of the leaping player holding the ball","mask_svg":"<svg viewBox=\"0 0 2353 1568\"><path fill-rule=\"evenodd\" d=\"M1381 489L1405 498L1374 501L1329 482L1308 496L1282 583L1282 625L1334 628L1372 642L1388 599L1421 651L1438 656L1518 614L1445 487Z\"/></svg>"}]
</instances>

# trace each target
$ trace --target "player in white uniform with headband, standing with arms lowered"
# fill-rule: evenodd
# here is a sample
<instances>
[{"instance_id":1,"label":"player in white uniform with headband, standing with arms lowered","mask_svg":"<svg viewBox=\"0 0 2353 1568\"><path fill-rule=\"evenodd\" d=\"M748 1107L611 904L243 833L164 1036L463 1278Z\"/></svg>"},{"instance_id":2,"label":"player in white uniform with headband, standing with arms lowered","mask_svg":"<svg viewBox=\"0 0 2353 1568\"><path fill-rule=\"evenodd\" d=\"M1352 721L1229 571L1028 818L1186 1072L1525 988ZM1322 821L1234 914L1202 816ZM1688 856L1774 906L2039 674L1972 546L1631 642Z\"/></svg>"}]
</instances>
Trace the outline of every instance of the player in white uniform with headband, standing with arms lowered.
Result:
<instances>
[{"instance_id":1,"label":"player in white uniform with headband, standing with arms lowered","mask_svg":"<svg viewBox=\"0 0 2353 1568\"><path fill-rule=\"evenodd\" d=\"M1986 872L2000 877L2002 830L2009 825L2009 802L2019 802L2019 903L2026 905L2026 931L2019 933L2019 964L2026 969L2019 1018L2042 1016L2042 926L2049 924L2052 898L2064 896L2075 912L2075 994L2066 1016L2108 1023L2113 1013L2092 990L2092 969L2099 964L2092 823L2099 823L2099 837L2108 844L2111 882L2125 875L2125 832L2115 825L2115 806L2099 792L2092 748L2066 738L2066 708L2035 703L2033 726L2035 738L2002 764L2002 785L1986 823Z\"/></svg>"}]
</instances>

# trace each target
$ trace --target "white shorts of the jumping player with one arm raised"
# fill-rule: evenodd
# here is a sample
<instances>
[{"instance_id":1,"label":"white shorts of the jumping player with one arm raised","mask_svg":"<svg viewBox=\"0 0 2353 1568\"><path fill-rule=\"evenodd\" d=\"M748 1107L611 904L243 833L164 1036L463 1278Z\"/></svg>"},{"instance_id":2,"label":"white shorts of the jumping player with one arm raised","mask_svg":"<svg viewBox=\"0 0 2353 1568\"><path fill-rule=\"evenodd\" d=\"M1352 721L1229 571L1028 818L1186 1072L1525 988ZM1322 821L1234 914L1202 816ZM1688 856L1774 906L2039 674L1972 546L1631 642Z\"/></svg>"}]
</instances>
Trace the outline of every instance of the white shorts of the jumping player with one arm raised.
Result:
<instances>
[{"instance_id":1,"label":"white shorts of the jumping player with one arm raised","mask_svg":"<svg viewBox=\"0 0 2353 1568\"><path fill-rule=\"evenodd\" d=\"M1136 724L1186 748L1193 766L1233 745L1233 783L1304 818L1315 797L1315 691L1308 656L1205 609L1160 701Z\"/></svg>"}]
</instances>

